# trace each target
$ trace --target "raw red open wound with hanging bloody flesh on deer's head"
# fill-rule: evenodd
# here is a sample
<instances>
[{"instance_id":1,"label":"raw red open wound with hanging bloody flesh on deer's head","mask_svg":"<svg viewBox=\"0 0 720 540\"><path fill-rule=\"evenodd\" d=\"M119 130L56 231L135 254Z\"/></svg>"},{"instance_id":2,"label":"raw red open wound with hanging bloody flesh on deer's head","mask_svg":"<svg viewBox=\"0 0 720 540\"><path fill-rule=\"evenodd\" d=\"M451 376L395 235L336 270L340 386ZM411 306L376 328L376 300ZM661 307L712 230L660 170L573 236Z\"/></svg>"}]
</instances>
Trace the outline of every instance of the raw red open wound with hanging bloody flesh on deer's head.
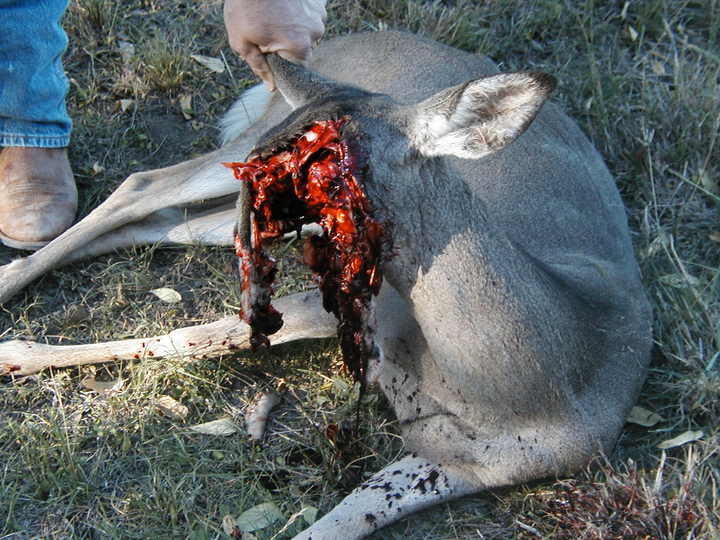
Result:
<instances>
[{"instance_id":1,"label":"raw red open wound with hanging bloody flesh on deer's head","mask_svg":"<svg viewBox=\"0 0 720 540\"><path fill-rule=\"evenodd\" d=\"M248 183L253 200L254 249L242 245L239 235L235 239L246 297L240 316L252 328L251 346L268 344L267 335L282 326L281 314L269 300L258 301L272 293L276 273L275 261L262 249L263 241L319 223L324 234L306 240L303 261L318 275L323 307L339 320L345 365L364 385L367 362L374 352L371 301L382 284L379 265L384 232L371 216L358 181L358 143L341 137L344 122L315 122L270 155L225 165Z\"/></svg>"}]
</instances>

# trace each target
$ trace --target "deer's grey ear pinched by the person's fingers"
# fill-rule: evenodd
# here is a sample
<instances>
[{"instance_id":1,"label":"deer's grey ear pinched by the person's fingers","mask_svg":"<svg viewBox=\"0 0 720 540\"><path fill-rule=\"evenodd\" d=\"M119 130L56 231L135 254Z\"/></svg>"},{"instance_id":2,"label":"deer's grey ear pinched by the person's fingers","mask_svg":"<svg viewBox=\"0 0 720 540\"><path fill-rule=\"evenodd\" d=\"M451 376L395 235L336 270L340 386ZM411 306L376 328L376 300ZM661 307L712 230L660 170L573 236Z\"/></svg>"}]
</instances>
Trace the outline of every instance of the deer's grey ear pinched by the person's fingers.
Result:
<instances>
[{"instance_id":1,"label":"deer's grey ear pinched by the person's fingers","mask_svg":"<svg viewBox=\"0 0 720 540\"><path fill-rule=\"evenodd\" d=\"M275 84L293 109L336 92L342 85L319 73L288 62L277 53L267 55Z\"/></svg>"}]
</instances>

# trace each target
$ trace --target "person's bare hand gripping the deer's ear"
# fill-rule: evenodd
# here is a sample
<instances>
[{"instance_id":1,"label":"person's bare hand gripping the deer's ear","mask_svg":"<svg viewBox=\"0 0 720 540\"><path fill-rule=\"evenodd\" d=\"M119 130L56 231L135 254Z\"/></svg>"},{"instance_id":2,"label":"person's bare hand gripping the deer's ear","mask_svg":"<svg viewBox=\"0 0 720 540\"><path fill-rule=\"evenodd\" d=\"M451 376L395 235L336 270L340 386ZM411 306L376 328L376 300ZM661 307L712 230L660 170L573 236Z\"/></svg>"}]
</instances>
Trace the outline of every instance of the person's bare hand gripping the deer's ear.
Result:
<instances>
[{"instance_id":1,"label":"person's bare hand gripping the deer's ear","mask_svg":"<svg viewBox=\"0 0 720 540\"><path fill-rule=\"evenodd\" d=\"M265 54L307 67L327 14L325 0L225 0L223 16L230 47L274 91Z\"/></svg>"}]
</instances>

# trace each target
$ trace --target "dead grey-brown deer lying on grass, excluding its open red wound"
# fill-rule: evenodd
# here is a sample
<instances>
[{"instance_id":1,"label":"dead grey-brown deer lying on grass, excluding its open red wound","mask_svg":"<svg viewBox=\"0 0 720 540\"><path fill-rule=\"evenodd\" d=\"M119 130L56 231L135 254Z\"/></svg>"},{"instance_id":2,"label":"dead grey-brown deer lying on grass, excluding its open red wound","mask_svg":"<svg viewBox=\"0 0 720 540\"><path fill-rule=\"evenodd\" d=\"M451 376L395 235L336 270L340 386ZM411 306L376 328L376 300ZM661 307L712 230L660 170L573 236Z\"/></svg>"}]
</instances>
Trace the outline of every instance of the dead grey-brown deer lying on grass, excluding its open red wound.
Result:
<instances>
[{"instance_id":1,"label":"dead grey-brown deer lying on grass, excluding its open red wound","mask_svg":"<svg viewBox=\"0 0 720 540\"><path fill-rule=\"evenodd\" d=\"M362 538L440 501L571 474L611 451L644 379L650 308L611 175L545 103L553 79L498 73L487 58L395 32L327 42L317 72L270 62L293 112L273 97L222 149L132 175L63 236L4 267L1 299L73 257L133 241L231 244L229 207L189 218L163 208L236 192L222 162L343 119L365 155L373 215L391 236L368 339L408 455L297 538ZM317 292L274 304L284 326L272 343L336 331ZM8 342L0 366L25 374L148 351L219 354L246 348L249 334L229 317L152 339Z\"/></svg>"}]
</instances>

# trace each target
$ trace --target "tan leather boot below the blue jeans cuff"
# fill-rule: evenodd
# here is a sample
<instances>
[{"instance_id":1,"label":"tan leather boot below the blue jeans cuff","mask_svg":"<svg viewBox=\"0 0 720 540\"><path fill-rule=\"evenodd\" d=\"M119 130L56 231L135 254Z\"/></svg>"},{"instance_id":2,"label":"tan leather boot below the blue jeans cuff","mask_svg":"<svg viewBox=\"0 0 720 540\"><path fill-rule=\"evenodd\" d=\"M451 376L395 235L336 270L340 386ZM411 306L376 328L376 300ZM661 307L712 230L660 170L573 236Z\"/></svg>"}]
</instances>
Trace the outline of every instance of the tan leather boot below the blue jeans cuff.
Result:
<instances>
[{"instance_id":1,"label":"tan leather boot below the blue jeans cuff","mask_svg":"<svg viewBox=\"0 0 720 540\"><path fill-rule=\"evenodd\" d=\"M75 219L77 189L65 148L8 146L0 152L0 240L37 249Z\"/></svg>"}]
</instances>

